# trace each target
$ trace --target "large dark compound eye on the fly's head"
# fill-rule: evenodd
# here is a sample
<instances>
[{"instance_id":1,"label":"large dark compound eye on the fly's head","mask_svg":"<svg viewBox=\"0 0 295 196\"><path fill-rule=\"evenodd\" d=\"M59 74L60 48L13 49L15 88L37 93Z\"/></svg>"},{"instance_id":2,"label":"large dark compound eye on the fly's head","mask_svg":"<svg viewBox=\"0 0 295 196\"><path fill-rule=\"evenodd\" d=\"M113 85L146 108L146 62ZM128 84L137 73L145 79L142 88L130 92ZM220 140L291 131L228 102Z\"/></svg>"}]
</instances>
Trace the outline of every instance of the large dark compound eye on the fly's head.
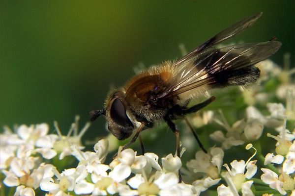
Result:
<instances>
[{"instance_id":1,"label":"large dark compound eye on the fly's head","mask_svg":"<svg viewBox=\"0 0 295 196\"><path fill-rule=\"evenodd\" d=\"M118 98L116 98L112 103L110 115L113 121L118 123L119 125L128 127L131 126L132 128L134 127L126 114L125 106Z\"/></svg>"}]
</instances>

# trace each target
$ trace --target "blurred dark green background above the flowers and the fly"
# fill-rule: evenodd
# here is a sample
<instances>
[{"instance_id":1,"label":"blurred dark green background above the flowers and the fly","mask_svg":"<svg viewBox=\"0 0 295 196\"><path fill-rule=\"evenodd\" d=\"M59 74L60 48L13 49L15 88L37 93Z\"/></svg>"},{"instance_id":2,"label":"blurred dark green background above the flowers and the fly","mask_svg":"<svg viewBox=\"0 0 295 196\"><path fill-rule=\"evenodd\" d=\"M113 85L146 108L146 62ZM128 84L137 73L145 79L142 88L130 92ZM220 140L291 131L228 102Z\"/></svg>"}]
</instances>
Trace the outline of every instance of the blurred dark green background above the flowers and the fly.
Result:
<instances>
[{"instance_id":1,"label":"blurred dark green background above the flowers and the fly","mask_svg":"<svg viewBox=\"0 0 295 196\"><path fill-rule=\"evenodd\" d=\"M121 86L133 67L179 58L238 20L263 11L233 41L276 36L271 58L294 65L295 1L0 1L0 125L59 122L67 131L100 109L111 85ZM105 135L105 120L85 139Z\"/></svg>"}]
</instances>

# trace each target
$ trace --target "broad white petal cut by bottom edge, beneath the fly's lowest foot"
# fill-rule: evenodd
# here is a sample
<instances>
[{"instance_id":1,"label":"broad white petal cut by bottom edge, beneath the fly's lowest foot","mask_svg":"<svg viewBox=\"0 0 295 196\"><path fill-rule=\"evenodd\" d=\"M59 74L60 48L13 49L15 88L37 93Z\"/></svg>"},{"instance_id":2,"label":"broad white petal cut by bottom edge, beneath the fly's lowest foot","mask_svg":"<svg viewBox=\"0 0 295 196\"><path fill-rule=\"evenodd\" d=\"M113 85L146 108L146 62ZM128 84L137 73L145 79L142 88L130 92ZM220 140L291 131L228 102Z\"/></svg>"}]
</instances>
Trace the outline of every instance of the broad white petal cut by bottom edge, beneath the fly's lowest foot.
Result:
<instances>
[{"instance_id":1,"label":"broad white petal cut by bottom edge, beneath the fly's lowest foot","mask_svg":"<svg viewBox=\"0 0 295 196\"><path fill-rule=\"evenodd\" d=\"M187 184L176 184L159 192L160 196L191 196L193 194L192 186Z\"/></svg>"}]
</instances>

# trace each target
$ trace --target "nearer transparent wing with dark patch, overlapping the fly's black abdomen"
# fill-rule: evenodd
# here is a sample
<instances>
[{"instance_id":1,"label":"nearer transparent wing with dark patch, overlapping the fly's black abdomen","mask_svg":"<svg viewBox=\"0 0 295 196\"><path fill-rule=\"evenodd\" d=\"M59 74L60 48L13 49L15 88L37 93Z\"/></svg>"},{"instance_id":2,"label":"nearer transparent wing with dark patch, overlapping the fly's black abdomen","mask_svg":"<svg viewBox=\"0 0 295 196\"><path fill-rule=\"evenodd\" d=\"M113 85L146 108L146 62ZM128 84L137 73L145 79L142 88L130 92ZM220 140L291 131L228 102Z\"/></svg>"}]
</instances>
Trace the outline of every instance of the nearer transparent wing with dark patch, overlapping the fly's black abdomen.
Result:
<instances>
[{"instance_id":1,"label":"nearer transparent wing with dark patch, overlapping the fly's black abdomen","mask_svg":"<svg viewBox=\"0 0 295 196\"><path fill-rule=\"evenodd\" d=\"M196 88L245 85L259 77L254 64L268 58L281 46L278 41L248 43L220 49L209 48L173 67L174 81L158 98L168 98Z\"/></svg>"}]
</instances>

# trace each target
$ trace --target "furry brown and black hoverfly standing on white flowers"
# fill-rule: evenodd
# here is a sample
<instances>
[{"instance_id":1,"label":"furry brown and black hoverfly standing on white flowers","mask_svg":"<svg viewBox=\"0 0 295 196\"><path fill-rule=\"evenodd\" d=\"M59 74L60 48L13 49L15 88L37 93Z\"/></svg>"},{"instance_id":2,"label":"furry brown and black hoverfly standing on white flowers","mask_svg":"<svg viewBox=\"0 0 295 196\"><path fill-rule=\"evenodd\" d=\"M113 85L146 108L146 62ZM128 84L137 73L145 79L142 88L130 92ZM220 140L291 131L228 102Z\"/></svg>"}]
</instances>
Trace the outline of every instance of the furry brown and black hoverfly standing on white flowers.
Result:
<instances>
[{"instance_id":1,"label":"furry brown and black hoverfly standing on white flowers","mask_svg":"<svg viewBox=\"0 0 295 196\"><path fill-rule=\"evenodd\" d=\"M178 61L166 61L135 75L125 86L111 92L104 109L90 112L91 121L104 115L109 131L118 140L129 138L137 130L123 147L125 149L140 137L142 130L164 120L176 135L177 156L180 157L179 130L173 120L183 118L191 128L185 115L197 112L215 97L188 107L190 100L210 89L255 82L260 70L254 65L280 48L281 43L273 39L216 48L217 44L253 25L261 15L247 17L226 28ZM199 146L206 151L191 130Z\"/></svg>"}]
</instances>

